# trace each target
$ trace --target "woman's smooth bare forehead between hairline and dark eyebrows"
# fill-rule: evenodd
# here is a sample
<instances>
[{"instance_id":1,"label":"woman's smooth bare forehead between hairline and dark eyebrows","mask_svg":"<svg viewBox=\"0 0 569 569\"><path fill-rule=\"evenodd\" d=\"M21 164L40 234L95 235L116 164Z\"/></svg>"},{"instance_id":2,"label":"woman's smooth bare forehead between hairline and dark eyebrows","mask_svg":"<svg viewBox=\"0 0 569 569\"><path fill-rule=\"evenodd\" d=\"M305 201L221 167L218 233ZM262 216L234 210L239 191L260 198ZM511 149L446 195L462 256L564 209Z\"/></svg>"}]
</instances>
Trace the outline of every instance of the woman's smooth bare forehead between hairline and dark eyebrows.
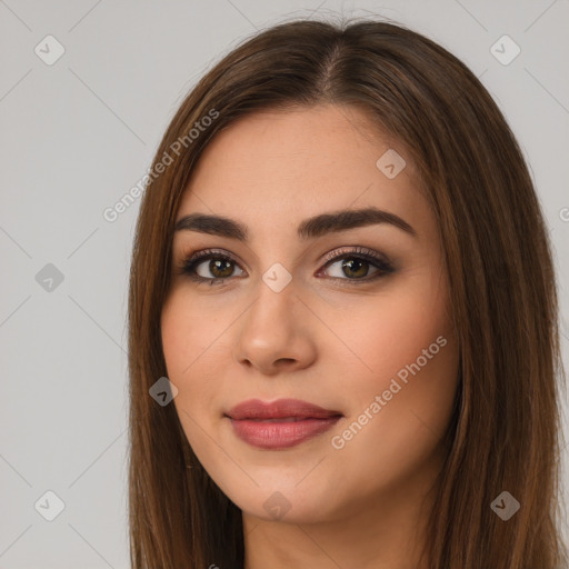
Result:
<instances>
[{"instance_id":1,"label":"woman's smooth bare forehead between hairline and dark eyebrows","mask_svg":"<svg viewBox=\"0 0 569 569\"><path fill-rule=\"evenodd\" d=\"M406 166L389 178L381 168L397 160L393 151ZM329 104L256 112L219 132L192 172L177 218L199 211L252 227L290 221L296 228L321 211L368 206L416 221L413 211L420 216L427 207L405 147L366 112Z\"/></svg>"}]
</instances>

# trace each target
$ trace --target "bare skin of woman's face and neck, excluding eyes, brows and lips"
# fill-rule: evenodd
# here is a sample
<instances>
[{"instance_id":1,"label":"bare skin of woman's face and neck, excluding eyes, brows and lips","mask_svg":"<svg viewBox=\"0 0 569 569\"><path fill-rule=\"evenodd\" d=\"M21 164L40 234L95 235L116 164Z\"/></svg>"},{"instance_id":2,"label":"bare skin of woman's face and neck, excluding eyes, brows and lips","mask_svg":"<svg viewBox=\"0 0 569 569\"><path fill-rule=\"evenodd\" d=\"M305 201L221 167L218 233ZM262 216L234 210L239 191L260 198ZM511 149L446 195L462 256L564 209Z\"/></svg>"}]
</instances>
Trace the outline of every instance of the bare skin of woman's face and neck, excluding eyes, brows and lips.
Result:
<instances>
[{"instance_id":1,"label":"bare skin of woman's face and neck, excluding eyes, brows and lips","mask_svg":"<svg viewBox=\"0 0 569 569\"><path fill-rule=\"evenodd\" d=\"M393 179L376 166L389 148L407 161ZM308 217L369 206L401 217L417 234L380 223L297 237ZM247 243L178 231L161 320L188 441L243 512L246 568L425 567L419 553L445 456L458 347L436 219L402 144L350 107L257 112L219 133L200 158L177 220L191 212L232 218L250 231ZM377 269L355 276L342 271L342 258L322 262L328 252L358 246L387 256L395 272L355 282ZM176 272L208 248L236 260L229 271L222 267L230 274L224 283L197 284ZM219 277L210 259L201 261L201 276ZM276 262L292 277L280 292L262 280ZM332 437L438 337L446 346L407 385L399 381L401 390L343 448L333 448ZM247 445L223 417L246 399L288 397L343 417L280 450ZM290 505L280 518L263 508L277 491Z\"/></svg>"}]
</instances>

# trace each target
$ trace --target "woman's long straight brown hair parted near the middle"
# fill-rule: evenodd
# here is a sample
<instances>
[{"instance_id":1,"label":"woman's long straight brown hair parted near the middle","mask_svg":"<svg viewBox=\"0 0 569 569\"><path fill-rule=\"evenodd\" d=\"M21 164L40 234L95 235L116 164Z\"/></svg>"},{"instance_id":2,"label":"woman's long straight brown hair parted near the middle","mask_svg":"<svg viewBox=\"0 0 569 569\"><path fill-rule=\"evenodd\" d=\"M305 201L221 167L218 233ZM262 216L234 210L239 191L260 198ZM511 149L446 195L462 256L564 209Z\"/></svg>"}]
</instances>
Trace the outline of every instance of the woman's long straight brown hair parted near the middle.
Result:
<instances>
[{"instance_id":1,"label":"woman's long straight brown hair parted near the middle","mask_svg":"<svg viewBox=\"0 0 569 569\"><path fill-rule=\"evenodd\" d=\"M243 567L241 511L197 460L174 406L149 396L167 375L160 313L173 224L216 133L261 109L322 103L363 109L370 124L405 144L440 228L460 368L427 540L430 568L566 567L558 300L527 164L461 61L401 24L370 20L289 21L243 41L192 89L159 146L129 290L132 567ZM502 491L520 503L508 521L491 508Z\"/></svg>"}]
</instances>

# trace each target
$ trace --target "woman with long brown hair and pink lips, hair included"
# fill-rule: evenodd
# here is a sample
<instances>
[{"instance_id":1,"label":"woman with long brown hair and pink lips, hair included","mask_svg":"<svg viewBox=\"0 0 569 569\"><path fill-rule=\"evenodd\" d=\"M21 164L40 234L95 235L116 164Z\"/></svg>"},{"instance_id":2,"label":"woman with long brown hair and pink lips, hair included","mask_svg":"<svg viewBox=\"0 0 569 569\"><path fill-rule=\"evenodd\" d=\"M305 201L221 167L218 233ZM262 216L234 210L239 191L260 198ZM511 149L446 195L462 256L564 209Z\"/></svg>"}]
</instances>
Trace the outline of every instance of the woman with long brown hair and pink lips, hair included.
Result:
<instances>
[{"instance_id":1,"label":"woman with long brown hair and pink lips, hair included","mask_svg":"<svg viewBox=\"0 0 569 569\"><path fill-rule=\"evenodd\" d=\"M463 63L393 23L277 26L148 181L132 567L566 567L548 233Z\"/></svg>"}]
</instances>

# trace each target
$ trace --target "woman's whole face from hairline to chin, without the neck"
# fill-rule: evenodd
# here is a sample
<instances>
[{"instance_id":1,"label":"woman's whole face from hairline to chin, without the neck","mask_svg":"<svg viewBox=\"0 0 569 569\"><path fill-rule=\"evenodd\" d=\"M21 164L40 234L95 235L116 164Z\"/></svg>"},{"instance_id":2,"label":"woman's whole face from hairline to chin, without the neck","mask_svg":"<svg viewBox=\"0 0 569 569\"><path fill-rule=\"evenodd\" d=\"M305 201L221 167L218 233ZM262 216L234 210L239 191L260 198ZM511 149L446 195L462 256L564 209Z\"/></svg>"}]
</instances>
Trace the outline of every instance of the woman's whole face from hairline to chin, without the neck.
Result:
<instances>
[{"instance_id":1,"label":"woman's whole face from hairline to chin, without the neck","mask_svg":"<svg viewBox=\"0 0 569 569\"><path fill-rule=\"evenodd\" d=\"M173 405L213 481L266 520L340 520L440 466L458 349L438 228L410 156L370 124L337 106L241 119L177 214ZM300 403L232 411L251 399Z\"/></svg>"}]
</instances>

